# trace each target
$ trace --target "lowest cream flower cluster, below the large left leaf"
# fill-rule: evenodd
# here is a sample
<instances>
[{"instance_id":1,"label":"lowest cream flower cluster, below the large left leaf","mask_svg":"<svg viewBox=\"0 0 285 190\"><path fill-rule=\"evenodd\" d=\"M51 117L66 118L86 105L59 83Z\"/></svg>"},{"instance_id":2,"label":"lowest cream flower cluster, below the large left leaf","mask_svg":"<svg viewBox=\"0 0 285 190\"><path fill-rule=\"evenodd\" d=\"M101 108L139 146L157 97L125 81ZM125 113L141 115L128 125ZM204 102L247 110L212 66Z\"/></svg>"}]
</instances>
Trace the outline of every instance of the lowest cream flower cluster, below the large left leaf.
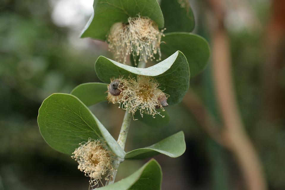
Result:
<instances>
[{"instance_id":1,"label":"lowest cream flower cluster, below the large left leaf","mask_svg":"<svg viewBox=\"0 0 285 190\"><path fill-rule=\"evenodd\" d=\"M102 140L89 138L88 142L82 142L75 149L71 156L78 162L78 170L90 177L90 186L98 186L102 176L107 179L113 173L112 162L115 159L114 154L109 151ZM102 183L102 182L101 182Z\"/></svg>"}]
</instances>

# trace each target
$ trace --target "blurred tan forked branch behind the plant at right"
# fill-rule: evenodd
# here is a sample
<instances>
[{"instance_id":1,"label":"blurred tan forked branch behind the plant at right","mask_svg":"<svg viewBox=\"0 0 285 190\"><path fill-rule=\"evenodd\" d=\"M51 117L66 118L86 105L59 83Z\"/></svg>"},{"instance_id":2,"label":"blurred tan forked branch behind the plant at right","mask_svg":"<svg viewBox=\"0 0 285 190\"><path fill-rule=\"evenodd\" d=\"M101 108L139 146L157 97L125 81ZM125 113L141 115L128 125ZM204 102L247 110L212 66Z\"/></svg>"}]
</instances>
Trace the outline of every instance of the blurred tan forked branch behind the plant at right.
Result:
<instances>
[{"instance_id":1,"label":"blurred tan forked branch behind the plant at right","mask_svg":"<svg viewBox=\"0 0 285 190\"><path fill-rule=\"evenodd\" d=\"M248 190L266 190L266 181L262 166L248 135L244 130L241 116L238 110L235 92L232 82L231 58L229 52L229 39L224 29L225 8L221 0L208 0L210 10L216 20L211 20L211 39L213 50L213 78L216 89L216 97L223 120L222 130L217 130L216 122L201 102L193 94L188 94L185 102L189 109L201 124L203 129L222 145L226 145L229 151L237 159L240 171ZM188 99L188 100L187 100ZM189 100L190 99L190 100ZM189 103L190 102L190 103ZM198 105L198 106L197 106ZM191 107L190 107L191 106ZM200 110L194 110L196 106ZM201 114L201 115L200 115ZM203 119L205 121L203 121ZM210 123L211 122L211 123ZM213 123L212 123L213 122Z\"/></svg>"}]
</instances>

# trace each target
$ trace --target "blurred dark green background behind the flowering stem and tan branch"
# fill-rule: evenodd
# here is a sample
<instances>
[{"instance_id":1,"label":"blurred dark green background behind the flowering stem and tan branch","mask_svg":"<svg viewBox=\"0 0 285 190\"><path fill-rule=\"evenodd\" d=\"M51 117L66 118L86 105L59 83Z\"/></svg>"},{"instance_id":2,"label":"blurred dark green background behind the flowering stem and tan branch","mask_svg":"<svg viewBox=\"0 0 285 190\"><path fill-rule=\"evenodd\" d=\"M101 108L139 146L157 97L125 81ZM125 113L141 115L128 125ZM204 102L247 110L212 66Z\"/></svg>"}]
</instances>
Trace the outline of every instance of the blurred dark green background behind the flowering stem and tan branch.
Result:
<instances>
[{"instance_id":1,"label":"blurred dark green background behind the flowering stem and tan branch","mask_svg":"<svg viewBox=\"0 0 285 190\"><path fill-rule=\"evenodd\" d=\"M277 35L270 30L273 27L270 23L274 21L274 4L278 2L283 6L279 6L278 19L284 18L282 0L222 1L238 105L270 190L285 189L285 43L276 50L267 46L268 41L274 40L270 37ZM92 3L92 0L0 1L1 190L88 189L88 178L77 170L77 163L44 142L37 126L37 114L42 101L50 94L70 93L81 83L99 82L94 71L97 57L112 58L105 42L78 38L92 14ZM211 42L213 23L209 22L208 1L191 0L190 4L196 16L194 32ZM285 19L278 19L278 29L284 32ZM281 42L285 38L283 34L278 34ZM269 52L280 55L273 72L264 66L271 60ZM190 85L219 120L211 67L210 62ZM268 97L263 86L273 76L278 79L275 88L270 89L274 97L270 93ZM267 110L268 104L271 110ZM91 110L117 138L124 112L106 102ZM180 130L185 132L187 149L183 156L176 159L156 156L162 166L163 190L246 189L232 154L208 137L183 103L166 110L171 121L165 127L154 129L132 122L126 145L129 151L156 143ZM117 180L144 162L124 162Z\"/></svg>"}]
</instances>

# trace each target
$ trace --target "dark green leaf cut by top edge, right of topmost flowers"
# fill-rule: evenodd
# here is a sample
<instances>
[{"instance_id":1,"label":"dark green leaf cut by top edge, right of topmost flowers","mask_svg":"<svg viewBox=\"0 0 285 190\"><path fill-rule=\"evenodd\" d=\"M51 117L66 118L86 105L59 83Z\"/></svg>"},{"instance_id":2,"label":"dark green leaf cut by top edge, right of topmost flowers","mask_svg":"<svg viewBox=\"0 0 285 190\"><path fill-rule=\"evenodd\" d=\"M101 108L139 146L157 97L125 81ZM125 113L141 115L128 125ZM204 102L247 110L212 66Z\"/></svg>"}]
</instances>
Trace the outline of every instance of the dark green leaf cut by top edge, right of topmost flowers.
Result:
<instances>
[{"instance_id":1,"label":"dark green leaf cut by top edge, right of topmost flowers","mask_svg":"<svg viewBox=\"0 0 285 190\"><path fill-rule=\"evenodd\" d=\"M195 19L188 0L162 0L160 8L166 32L191 32L194 29Z\"/></svg>"}]
</instances>

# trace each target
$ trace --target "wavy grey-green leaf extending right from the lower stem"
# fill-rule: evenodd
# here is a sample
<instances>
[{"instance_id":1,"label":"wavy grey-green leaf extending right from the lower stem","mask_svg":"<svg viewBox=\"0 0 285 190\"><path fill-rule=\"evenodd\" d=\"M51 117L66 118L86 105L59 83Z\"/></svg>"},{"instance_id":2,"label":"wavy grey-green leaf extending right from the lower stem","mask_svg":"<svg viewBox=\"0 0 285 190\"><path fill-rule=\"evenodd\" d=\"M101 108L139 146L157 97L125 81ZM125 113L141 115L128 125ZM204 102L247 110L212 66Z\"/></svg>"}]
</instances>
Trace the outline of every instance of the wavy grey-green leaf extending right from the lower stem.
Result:
<instances>
[{"instance_id":1,"label":"wavy grey-green leaf extending right from the lower stem","mask_svg":"<svg viewBox=\"0 0 285 190\"><path fill-rule=\"evenodd\" d=\"M159 154L176 158L186 150L183 131L171 135L164 140L145 148L139 148L126 153L125 159L146 159Z\"/></svg>"}]
</instances>

